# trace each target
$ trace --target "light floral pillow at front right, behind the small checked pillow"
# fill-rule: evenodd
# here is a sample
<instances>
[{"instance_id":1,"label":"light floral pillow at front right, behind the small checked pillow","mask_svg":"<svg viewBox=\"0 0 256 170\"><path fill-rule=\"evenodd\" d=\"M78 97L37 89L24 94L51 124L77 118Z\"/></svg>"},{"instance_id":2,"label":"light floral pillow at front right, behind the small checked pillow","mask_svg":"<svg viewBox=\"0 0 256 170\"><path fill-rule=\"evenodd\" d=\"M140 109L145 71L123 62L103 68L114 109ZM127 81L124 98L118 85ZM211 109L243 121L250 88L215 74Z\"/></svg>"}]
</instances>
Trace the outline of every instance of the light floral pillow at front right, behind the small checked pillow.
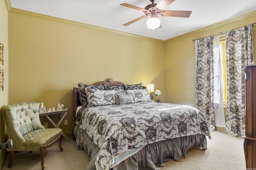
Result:
<instances>
[{"instance_id":1,"label":"light floral pillow at front right, behind the small checked pillow","mask_svg":"<svg viewBox=\"0 0 256 170\"><path fill-rule=\"evenodd\" d=\"M135 89L135 90L125 90L126 94L131 94L134 103L138 102L153 102L148 94L148 89Z\"/></svg>"}]
</instances>

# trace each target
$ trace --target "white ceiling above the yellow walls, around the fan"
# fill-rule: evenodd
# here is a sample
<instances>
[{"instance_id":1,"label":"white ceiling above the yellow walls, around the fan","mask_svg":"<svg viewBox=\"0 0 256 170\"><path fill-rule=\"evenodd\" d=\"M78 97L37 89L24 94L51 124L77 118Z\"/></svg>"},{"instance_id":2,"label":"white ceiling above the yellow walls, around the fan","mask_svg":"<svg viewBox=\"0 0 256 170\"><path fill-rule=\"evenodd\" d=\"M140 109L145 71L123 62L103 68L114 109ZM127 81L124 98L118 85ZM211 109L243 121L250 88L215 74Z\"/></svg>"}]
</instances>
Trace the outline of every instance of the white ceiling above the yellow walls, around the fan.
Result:
<instances>
[{"instance_id":1,"label":"white ceiling above the yellow walls, around the fan","mask_svg":"<svg viewBox=\"0 0 256 170\"><path fill-rule=\"evenodd\" d=\"M149 0L10 0L12 8L66 20L118 30L144 37L166 40L196 29L256 10L256 0L175 0L164 10L192 11L189 18L159 16L162 28L148 29L144 18L123 26L144 13L120 6L122 3L144 8ZM155 3L160 2L156 0Z\"/></svg>"}]
</instances>

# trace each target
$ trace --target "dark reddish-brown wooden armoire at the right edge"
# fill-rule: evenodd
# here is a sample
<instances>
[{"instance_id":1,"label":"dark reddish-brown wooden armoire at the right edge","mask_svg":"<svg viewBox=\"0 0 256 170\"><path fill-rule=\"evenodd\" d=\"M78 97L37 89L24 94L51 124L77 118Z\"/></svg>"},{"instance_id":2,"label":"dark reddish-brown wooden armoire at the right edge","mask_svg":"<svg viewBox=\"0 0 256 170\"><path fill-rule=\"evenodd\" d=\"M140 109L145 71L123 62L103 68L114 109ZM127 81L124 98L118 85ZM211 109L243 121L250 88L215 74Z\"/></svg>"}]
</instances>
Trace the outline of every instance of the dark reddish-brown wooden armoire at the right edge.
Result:
<instances>
[{"instance_id":1,"label":"dark reddish-brown wooden armoire at the right edge","mask_svg":"<svg viewBox=\"0 0 256 170\"><path fill-rule=\"evenodd\" d=\"M245 66L245 136L246 168L256 168L256 65Z\"/></svg>"}]
</instances>

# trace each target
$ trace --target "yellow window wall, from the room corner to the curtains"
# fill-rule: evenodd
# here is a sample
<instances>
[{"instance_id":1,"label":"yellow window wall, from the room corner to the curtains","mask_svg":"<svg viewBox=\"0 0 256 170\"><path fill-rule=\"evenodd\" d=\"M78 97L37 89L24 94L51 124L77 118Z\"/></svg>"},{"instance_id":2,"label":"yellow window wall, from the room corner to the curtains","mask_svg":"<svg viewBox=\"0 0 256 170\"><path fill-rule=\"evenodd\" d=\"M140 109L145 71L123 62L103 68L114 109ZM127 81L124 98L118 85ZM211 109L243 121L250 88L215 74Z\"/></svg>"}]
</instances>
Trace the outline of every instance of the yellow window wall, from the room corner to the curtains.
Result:
<instances>
[{"instance_id":1,"label":"yellow window wall, from the room corner to the curtains","mask_svg":"<svg viewBox=\"0 0 256 170\"><path fill-rule=\"evenodd\" d=\"M255 21L256 11L165 41L166 101L194 106L195 43L192 41L193 39L207 37L220 32L225 34L228 30L236 29ZM252 30L254 49L256 49L256 28L253 27Z\"/></svg>"}]
</instances>

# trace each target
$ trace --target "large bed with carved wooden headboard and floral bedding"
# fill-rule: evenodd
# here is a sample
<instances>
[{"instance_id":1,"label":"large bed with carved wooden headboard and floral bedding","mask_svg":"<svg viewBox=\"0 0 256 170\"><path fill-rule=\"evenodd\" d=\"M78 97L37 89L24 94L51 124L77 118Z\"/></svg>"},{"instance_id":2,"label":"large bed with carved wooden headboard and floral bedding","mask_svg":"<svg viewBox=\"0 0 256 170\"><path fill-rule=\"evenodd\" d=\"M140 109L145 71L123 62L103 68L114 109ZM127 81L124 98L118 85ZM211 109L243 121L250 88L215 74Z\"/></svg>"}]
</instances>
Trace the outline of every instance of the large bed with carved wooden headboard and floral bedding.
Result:
<instances>
[{"instance_id":1,"label":"large bed with carved wooden headboard and floral bedding","mask_svg":"<svg viewBox=\"0 0 256 170\"><path fill-rule=\"evenodd\" d=\"M73 88L73 139L87 170L160 170L193 148L207 149L206 118L191 106L157 103L140 84L100 81Z\"/></svg>"}]
</instances>

